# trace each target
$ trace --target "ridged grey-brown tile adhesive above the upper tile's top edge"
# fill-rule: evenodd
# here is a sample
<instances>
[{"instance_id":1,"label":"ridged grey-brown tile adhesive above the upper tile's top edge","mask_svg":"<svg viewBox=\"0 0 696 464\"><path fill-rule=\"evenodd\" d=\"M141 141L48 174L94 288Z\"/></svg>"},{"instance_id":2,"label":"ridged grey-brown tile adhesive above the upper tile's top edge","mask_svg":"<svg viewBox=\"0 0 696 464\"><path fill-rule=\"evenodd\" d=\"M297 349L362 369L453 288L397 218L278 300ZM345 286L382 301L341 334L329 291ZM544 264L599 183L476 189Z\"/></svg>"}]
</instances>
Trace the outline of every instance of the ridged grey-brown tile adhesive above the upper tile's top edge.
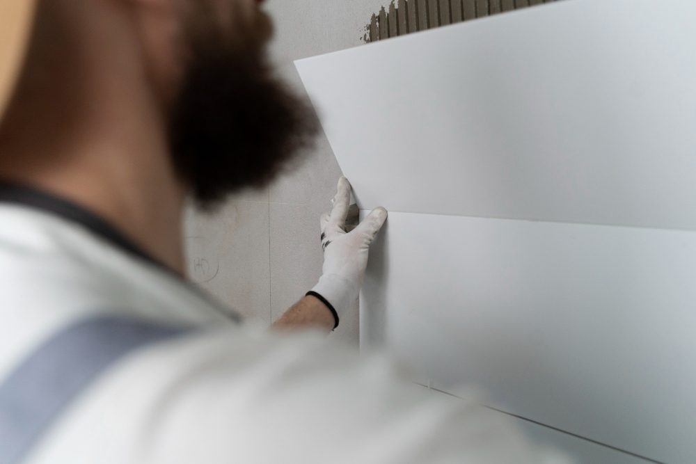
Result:
<instances>
[{"instance_id":1,"label":"ridged grey-brown tile adhesive above the upper tile's top edge","mask_svg":"<svg viewBox=\"0 0 696 464\"><path fill-rule=\"evenodd\" d=\"M392 0L372 15L361 40L376 42L552 1L557 0Z\"/></svg>"}]
</instances>

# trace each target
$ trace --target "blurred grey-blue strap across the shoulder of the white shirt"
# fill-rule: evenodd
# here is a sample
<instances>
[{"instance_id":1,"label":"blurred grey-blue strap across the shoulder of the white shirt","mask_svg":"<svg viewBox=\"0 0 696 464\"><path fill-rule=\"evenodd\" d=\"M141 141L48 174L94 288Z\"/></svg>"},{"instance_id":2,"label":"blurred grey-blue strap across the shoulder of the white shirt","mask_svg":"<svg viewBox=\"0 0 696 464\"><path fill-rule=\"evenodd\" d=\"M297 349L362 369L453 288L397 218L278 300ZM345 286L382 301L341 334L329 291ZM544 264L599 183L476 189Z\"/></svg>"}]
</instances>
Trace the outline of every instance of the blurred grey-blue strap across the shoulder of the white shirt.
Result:
<instances>
[{"instance_id":1,"label":"blurred grey-blue strap across the shoulder of the white shirt","mask_svg":"<svg viewBox=\"0 0 696 464\"><path fill-rule=\"evenodd\" d=\"M0 385L0 464L21 461L70 402L119 358L190 330L104 316L53 335Z\"/></svg>"}]
</instances>

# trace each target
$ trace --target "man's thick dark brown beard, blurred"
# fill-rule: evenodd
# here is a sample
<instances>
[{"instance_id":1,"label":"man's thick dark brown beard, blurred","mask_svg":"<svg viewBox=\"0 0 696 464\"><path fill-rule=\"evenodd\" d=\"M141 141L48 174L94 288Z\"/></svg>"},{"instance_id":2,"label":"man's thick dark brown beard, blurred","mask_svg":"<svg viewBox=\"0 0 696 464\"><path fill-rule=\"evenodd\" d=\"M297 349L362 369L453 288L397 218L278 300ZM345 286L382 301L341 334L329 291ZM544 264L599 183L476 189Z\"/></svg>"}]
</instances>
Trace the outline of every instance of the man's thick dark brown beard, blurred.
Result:
<instances>
[{"instance_id":1,"label":"man's thick dark brown beard, blurred","mask_svg":"<svg viewBox=\"0 0 696 464\"><path fill-rule=\"evenodd\" d=\"M268 184L317 131L315 113L273 76L262 42L230 47L208 35L193 45L169 143L177 175L202 207Z\"/></svg>"}]
</instances>

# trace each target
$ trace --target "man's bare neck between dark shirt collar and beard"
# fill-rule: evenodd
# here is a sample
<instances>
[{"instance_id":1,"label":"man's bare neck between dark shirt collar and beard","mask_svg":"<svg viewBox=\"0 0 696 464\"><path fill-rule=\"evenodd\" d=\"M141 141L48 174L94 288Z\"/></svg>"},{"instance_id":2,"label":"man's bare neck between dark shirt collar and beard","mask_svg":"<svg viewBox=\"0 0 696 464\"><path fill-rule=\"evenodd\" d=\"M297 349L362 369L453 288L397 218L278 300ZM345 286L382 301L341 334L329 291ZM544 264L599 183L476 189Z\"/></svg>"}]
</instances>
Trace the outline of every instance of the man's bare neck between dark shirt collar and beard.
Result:
<instances>
[{"instance_id":1,"label":"man's bare neck between dark shirt collar and beard","mask_svg":"<svg viewBox=\"0 0 696 464\"><path fill-rule=\"evenodd\" d=\"M120 24L101 26L113 35L84 30L89 38L61 43L61 31L46 28L53 48L42 49L42 38L33 46L0 126L0 177L93 211L183 273L187 189L168 154L164 112L143 79L137 44ZM76 49L78 42L88 45ZM42 81L45 74L52 82Z\"/></svg>"}]
</instances>

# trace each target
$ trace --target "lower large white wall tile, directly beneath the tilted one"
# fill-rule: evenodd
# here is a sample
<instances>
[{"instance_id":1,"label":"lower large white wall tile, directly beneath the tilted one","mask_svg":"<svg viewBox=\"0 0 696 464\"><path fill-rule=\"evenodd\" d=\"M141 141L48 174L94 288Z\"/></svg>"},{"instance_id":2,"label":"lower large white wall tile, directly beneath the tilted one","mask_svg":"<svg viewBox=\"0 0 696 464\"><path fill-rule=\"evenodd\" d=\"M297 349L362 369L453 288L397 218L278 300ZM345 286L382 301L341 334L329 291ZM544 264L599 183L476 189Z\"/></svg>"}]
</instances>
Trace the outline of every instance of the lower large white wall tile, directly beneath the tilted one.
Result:
<instances>
[{"instance_id":1,"label":"lower large white wall tile, directly beneath the tilted one","mask_svg":"<svg viewBox=\"0 0 696 464\"><path fill-rule=\"evenodd\" d=\"M695 280L696 232L392 212L361 338L421 383L474 383L510 413L693 462Z\"/></svg>"}]
</instances>

